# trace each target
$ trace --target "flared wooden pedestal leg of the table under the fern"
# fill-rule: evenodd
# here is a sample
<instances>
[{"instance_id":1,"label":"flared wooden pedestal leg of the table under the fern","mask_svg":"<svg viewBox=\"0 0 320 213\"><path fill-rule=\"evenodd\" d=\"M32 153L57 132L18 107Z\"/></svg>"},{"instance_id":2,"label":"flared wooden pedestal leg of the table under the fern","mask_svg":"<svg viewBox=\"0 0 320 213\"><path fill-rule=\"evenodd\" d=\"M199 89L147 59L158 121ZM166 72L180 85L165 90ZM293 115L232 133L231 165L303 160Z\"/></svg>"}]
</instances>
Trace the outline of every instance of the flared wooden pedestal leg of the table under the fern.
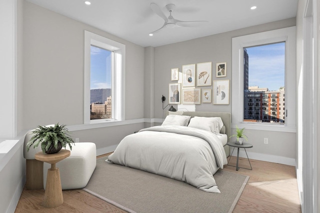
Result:
<instances>
[{"instance_id":1,"label":"flared wooden pedestal leg of the table under the fern","mask_svg":"<svg viewBox=\"0 0 320 213\"><path fill-rule=\"evenodd\" d=\"M43 206L46 208L54 208L63 204L59 168L56 168L55 164L53 168L54 170L48 169L46 177L46 186L43 202Z\"/></svg>"}]
</instances>

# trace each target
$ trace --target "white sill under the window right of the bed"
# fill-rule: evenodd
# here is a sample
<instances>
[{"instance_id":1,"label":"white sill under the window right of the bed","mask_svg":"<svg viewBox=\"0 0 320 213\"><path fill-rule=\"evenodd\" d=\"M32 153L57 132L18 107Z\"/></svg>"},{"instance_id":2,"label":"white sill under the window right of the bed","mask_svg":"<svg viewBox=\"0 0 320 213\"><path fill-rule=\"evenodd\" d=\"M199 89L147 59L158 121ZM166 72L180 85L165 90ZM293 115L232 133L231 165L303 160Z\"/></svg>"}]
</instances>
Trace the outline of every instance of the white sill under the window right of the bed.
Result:
<instances>
[{"instance_id":1,"label":"white sill under the window right of the bed","mask_svg":"<svg viewBox=\"0 0 320 213\"><path fill-rule=\"evenodd\" d=\"M231 124L231 128L240 129L245 128L247 130L262 130L262 131L272 131L272 132L296 132L295 126L285 126L281 124L264 124L264 123L237 123Z\"/></svg>"}]
</instances>

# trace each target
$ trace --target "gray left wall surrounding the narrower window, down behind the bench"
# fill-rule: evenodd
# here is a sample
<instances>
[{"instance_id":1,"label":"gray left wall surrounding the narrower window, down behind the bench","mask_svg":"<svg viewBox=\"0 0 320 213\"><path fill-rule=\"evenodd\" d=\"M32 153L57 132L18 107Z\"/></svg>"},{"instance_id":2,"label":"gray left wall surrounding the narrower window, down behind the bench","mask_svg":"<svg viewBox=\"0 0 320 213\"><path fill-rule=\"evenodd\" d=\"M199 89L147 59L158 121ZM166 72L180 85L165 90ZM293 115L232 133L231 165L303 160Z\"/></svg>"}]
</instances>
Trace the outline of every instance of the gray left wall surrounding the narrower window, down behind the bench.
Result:
<instances>
[{"instance_id":1,"label":"gray left wall surrounding the narrower window, down behind the bench","mask_svg":"<svg viewBox=\"0 0 320 213\"><path fill-rule=\"evenodd\" d=\"M84 30L125 44L125 120L144 118L143 47L27 1L23 17L21 128L83 124ZM94 142L101 149L142 127L143 123L81 130L72 137Z\"/></svg>"}]
</instances>

